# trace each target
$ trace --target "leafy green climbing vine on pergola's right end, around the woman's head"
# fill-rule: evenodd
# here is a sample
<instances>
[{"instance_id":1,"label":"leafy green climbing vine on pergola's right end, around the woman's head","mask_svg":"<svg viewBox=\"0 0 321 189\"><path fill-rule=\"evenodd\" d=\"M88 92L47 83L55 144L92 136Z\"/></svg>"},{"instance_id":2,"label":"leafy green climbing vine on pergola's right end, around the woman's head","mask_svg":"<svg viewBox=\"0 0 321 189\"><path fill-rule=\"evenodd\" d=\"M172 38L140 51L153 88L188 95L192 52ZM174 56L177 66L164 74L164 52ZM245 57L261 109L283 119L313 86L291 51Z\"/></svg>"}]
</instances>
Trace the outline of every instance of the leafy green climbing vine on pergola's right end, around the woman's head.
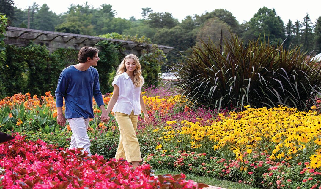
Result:
<instances>
[{"instance_id":1,"label":"leafy green climbing vine on pergola's right end, around the woman's head","mask_svg":"<svg viewBox=\"0 0 321 189\"><path fill-rule=\"evenodd\" d=\"M142 75L145 79L144 86L158 85L160 67L164 63L166 58L164 52L158 48L156 44L152 44L149 38L142 36L138 38L136 36L120 35L117 33L109 33L105 35L99 35L100 37L121 39L133 41L136 43L142 43L144 45L149 44L151 46L148 49L141 51L141 55L137 55L142 66ZM112 92L111 82L116 75L116 70L122 59L126 56L124 49L120 43L111 43L109 41L101 41L97 45L102 46L103 50L99 52L100 63L97 66L100 77L100 88L104 92ZM166 59L165 59L166 60ZM101 71L102 70L102 71ZM104 73L104 74L102 74ZM107 89L107 91L105 91Z\"/></svg>"}]
</instances>

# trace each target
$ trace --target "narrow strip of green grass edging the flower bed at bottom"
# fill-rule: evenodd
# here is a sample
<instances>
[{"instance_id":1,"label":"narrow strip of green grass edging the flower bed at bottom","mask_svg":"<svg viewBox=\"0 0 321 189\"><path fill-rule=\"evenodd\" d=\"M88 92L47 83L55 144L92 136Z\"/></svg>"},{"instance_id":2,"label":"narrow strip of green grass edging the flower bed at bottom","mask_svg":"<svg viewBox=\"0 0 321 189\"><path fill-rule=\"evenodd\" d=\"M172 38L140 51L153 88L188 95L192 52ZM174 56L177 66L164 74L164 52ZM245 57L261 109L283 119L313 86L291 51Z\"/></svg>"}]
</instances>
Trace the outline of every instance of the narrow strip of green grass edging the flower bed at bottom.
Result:
<instances>
[{"instance_id":1,"label":"narrow strip of green grass edging the flower bed at bottom","mask_svg":"<svg viewBox=\"0 0 321 189\"><path fill-rule=\"evenodd\" d=\"M171 175L179 175L180 172L178 171L173 171L169 169L154 169L155 170L155 175L166 175L166 174L171 174ZM203 183L206 185L212 185L212 186L217 186L217 187L222 187L222 188L227 188L227 189L261 189L258 187L253 187L245 184L239 184L236 182L228 181L228 180L219 180L217 178L212 178L212 177L205 177L205 176L198 176L195 174L185 174L186 179L191 179L197 183Z\"/></svg>"}]
</instances>

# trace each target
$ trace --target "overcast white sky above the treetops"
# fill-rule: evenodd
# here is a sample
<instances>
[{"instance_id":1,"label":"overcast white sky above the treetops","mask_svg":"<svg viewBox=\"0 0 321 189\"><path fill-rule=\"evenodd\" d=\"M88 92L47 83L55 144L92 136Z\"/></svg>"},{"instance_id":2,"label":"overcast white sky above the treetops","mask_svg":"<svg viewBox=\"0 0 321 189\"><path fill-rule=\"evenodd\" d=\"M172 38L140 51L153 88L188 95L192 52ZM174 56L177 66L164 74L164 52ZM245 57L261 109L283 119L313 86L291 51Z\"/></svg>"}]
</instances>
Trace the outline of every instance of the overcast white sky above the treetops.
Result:
<instances>
[{"instance_id":1,"label":"overcast white sky above the treetops","mask_svg":"<svg viewBox=\"0 0 321 189\"><path fill-rule=\"evenodd\" d=\"M296 20L300 22L308 13L311 21L315 24L321 16L321 1L289 1L289 0L14 0L15 6L24 10L28 8L28 3L42 5L47 4L52 12L57 14L67 12L70 4L85 4L88 2L94 8L99 8L101 4L110 4L112 9L117 12L116 18L129 19L134 16L141 19L142 8L151 8L153 12L169 12L173 18L184 20L186 16L201 15L205 12L212 12L215 9L225 9L243 23L249 21L253 15L263 6L275 9L284 24L290 19L292 23ZM298 3L296 3L298 2Z\"/></svg>"}]
</instances>

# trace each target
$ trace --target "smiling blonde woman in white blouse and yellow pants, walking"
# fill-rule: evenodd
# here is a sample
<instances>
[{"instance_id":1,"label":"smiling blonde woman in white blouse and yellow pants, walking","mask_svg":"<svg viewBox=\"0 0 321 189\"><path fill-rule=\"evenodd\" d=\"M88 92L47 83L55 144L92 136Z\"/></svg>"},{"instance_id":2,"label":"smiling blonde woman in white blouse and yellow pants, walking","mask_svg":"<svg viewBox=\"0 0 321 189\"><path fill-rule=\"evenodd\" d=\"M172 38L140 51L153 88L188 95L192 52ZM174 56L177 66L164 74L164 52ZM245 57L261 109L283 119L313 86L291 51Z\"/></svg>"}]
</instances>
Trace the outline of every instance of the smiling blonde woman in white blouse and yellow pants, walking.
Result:
<instances>
[{"instance_id":1,"label":"smiling blonde woman in white blouse and yellow pants, walking","mask_svg":"<svg viewBox=\"0 0 321 189\"><path fill-rule=\"evenodd\" d=\"M107 114L113 109L120 130L119 145L116 159L123 158L136 168L142 160L136 128L138 115L144 113L144 123L149 123L142 97L142 76L139 59L134 54L128 54L118 66L112 83L113 95L107 106ZM109 119L108 119L109 120Z\"/></svg>"}]
</instances>

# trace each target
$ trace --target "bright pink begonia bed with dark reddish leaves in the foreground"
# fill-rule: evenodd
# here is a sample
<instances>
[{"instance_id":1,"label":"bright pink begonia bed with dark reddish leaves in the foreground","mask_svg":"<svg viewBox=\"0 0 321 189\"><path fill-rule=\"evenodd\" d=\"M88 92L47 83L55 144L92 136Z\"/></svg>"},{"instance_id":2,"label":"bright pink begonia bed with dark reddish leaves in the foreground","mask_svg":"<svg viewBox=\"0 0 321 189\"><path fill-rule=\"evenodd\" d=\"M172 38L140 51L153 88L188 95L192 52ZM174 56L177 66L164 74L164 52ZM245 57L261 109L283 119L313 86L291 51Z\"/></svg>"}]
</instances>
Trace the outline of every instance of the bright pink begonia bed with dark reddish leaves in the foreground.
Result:
<instances>
[{"instance_id":1,"label":"bright pink begonia bed with dark reddish leaves in the foreground","mask_svg":"<svg viewBox=\"0 0 321 189\"><path fill-rule=\"evenodd\" d=\"M136 169L125 160L109 159L100 155L86 156L78 149L55 148L42 140L24 141L24 137L13 134L15 139L0 145L1 162L5 175L1 185L7 188L22 188L32 184L34 189L65 186L74 188L159 188L163 183L151 177L150 165ZM181 174L175 181L182 188L196 189L192 180L184 180ZM169 183L173 183L173 182ZM175 187L174 187L175 188Z\"/></svg>"}]
</instances>

